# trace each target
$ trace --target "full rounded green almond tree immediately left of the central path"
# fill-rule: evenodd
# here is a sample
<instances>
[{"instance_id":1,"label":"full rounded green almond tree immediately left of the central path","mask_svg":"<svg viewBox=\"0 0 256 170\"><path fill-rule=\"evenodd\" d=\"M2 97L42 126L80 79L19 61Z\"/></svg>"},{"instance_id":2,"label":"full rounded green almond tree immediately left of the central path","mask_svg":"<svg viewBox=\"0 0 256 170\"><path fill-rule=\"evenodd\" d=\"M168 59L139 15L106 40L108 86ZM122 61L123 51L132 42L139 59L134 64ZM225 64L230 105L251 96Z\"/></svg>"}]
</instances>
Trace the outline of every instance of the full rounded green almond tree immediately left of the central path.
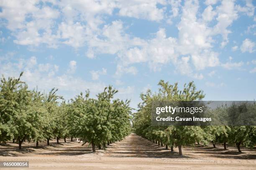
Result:
<instances>
[{"instance_id":1,"label":"full rounded green almond tree immediately left of the central path","mask_svg":"<svg viewBox=\"0 0 256 170\"><path fill-rule=\"evenodd\" d=\"M95 145L105 147L105 143L121 140L130 133L129 101L112 100L117 92L112 86L106 87L97 100L89 98L89 90L85 95L81 92L69 106L69 132L92 144L93 151Z\"/></svg>"}]
</instances>

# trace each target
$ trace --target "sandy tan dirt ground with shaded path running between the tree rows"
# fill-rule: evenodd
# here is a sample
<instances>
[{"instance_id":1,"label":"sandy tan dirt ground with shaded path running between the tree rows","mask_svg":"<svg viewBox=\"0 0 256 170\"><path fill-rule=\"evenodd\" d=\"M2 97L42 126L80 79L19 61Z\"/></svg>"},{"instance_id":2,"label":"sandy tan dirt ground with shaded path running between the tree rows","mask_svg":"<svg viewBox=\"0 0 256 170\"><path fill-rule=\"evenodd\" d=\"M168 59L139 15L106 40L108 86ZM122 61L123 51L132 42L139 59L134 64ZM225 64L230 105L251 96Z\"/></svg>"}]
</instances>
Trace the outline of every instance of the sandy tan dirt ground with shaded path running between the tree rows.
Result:
<instances>
[{"instance_id":1,"label":"sandy tan dirt ground with shaded path running between the tree rows","mask_svg":"<svg viewBox=\"0 0 256 170\"><path fill-rule=\"evenodd\" d=\"M11 144L13 147L14 145ZM235 148L229 148L224 152L221 148L186 147L182 148L184 158L179 158L178 153L171 153L170 150L134 134L123 141L111 144L106 151L97 150L96 153L91 153L88 145L82 146L81 143L75 142L41 148L31 148L30 145L26 144L26 149L22 151L14 149L6 151L11 147L0 146L0 151L5 150L13 155L0 156L0 161L29 161L29 169L32 170L256 169L256 159L251 157L256 154L255 150L248 150L238 155ZM177 149L174 148L174 151ZM10 170L10 168L2 169Z\"/></svg>"}]
</instances>

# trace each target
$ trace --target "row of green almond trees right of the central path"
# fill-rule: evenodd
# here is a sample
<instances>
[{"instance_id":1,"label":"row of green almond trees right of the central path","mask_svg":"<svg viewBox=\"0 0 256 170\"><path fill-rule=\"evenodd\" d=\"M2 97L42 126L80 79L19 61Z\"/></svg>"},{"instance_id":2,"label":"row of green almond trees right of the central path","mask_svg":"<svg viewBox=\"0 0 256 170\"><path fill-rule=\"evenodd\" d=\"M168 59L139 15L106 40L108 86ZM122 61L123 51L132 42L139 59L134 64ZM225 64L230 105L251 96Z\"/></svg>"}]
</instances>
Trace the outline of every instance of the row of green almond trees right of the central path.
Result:
<instances>
[{"instance_id":1,"label":"row of green almond trees right of the central path","mask_svg":"<svg viewBox=\"0 0 256 170\"><path fill-rule=\"evenodd\" d=\"M241 145L253 148L256 144L255 126L154 126L151 124L152 102L164 101L194 101L202 100L205 94L202 90L196 90L194 82L184 85L183 90L179 90L178 83L170 85L169 82L160 80L159 92L152 93L148 90L141 94L141 102L138 112L134 113L133 129L138 135L166 148L179 148L179 155L182 156L182 146L195 145L201 143L208 145L212 143L222 143L224 149L226 144L236 145L241 152ZM225 110L225 107L219 109ZM252 110L256 111L256 105L252 105ZM219 110L220 111L220 110Z\"/></svg>"}]
</instances>

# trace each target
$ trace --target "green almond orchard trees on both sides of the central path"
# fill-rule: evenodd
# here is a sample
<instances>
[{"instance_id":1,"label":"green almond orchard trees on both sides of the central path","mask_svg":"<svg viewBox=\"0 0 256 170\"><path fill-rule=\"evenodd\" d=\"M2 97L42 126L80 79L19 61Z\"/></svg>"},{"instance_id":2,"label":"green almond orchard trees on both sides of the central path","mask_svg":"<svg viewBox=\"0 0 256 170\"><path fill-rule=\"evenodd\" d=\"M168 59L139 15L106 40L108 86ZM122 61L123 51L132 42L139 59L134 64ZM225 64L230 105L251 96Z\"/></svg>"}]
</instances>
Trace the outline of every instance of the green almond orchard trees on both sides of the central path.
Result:
<instances>
[{"instance_id":1,"label":"green almond orchard trees on both sides of the central path","mask_svg":"<svg viewBox=\"0 0 256 170\"><path fill-rule=\"evenodd\" d=\"M58 95L58 89L48 93L38 89L30 90L26 82L18 78L2 77L0 81L0 143L12 141L22 149L25 141L35 143L51 139L80 138L83 144L106 149L115 141L123 140L129 134L136 133L152 143L158 143L170 152L174 147L182 156L182 146L223 144L253 148L256 145L255 126L154 126L151 123L151 105L155 100L200 101L205 94L197 90L194 82L185 84L179 90L164 80L159 81L159 91L141 93L142 102L137 112L132 113L129 100L116 99L118 93L112 86L105 87L95 98L90 90L81 92L71 100L65 101ZM236 114L225 106L218 108L227 114ZM256 110L256 105L248 109Z\"/></svg>"}]
</instances>

